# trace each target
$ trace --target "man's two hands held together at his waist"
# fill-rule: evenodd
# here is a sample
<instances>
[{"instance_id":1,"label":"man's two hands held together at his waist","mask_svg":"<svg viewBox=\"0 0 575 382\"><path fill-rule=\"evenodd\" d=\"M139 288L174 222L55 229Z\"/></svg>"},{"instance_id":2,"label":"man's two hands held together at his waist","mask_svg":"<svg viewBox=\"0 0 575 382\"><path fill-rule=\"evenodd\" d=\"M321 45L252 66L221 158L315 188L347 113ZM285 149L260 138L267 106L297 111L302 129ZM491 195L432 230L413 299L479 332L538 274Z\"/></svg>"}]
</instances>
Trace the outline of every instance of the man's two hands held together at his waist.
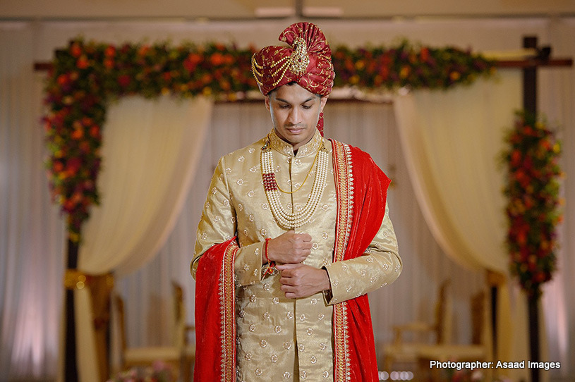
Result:
<instances>
[{"instance_id":1,"label":"man's two hands held together at his waist","mask_svg":"<svg viewBox=\"0 0 575 382\"><path fill-rule=\"evenodd\" d=\"M267 257L278 263L279 283L287 298L308 297L331 289L325 269L303 264L311 252L311 236L293 230L271 239L267 243ZM265 260L263 260L265 261Z\"/></svg>"}]
</instances>

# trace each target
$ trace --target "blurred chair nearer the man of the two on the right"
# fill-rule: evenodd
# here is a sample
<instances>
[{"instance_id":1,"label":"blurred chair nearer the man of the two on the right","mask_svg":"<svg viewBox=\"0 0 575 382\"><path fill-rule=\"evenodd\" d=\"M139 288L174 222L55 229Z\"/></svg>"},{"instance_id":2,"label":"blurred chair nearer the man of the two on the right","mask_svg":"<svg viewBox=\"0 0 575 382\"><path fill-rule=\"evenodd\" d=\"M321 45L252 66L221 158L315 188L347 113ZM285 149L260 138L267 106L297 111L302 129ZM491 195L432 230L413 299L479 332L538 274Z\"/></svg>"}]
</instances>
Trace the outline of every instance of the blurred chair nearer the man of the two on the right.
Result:
<instances>
[{"instance_id":1,"label":"blurred chair nearer the man of the two on the right","mask_svg":"<svg viewBox=\"0 0 575 382\"><path fill-rule=\"evenodd\" d=\"M452 305L449 299L450 280L440 285L435 303L435 321L432 324L413 321L408 324L393 326L393 343L383 349L384 370L392 371L397 364L416 366L420 347L430 345L433 335L435 344L449 343L451 340ZM406 333L412 333L413 339L407 341Z\"/></svg>"}]
</instances>

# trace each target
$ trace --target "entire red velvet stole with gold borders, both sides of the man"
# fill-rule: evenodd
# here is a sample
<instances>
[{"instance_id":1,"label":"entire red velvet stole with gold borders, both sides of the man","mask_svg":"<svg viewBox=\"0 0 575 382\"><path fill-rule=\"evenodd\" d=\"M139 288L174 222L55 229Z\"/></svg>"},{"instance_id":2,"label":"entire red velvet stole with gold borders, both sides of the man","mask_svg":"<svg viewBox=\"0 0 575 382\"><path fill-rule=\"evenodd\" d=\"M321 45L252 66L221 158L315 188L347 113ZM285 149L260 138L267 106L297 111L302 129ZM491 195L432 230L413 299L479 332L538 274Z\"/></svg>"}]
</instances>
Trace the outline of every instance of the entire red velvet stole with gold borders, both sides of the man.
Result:
<instances>
[{"instance_id":1,"label":"entire red velvet stole with gold borders, both sides of the man","mask_svg":"<svg viewBox=\"0 0 575 382\"><path fill-rule=\"evenodd\" d=\"M381 226L391 180L369 154L332 140L337 187L334 261L361 256ZM236 381L236 238L200 257L195 285L194 381ZM368 296L334 304L334 381L378 381Z\"/></svg>"}]
</instances>

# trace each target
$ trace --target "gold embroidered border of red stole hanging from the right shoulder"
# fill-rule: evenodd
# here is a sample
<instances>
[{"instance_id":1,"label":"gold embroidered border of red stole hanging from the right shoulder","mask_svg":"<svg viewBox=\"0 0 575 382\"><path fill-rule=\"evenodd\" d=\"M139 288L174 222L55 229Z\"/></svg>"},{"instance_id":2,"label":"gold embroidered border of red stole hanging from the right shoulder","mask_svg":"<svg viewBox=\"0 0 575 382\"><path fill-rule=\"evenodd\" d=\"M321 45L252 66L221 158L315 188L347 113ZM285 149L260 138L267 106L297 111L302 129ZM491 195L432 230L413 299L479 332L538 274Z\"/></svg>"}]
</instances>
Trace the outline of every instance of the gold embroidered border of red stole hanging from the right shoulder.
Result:
<instances>
[{"instance_id":1,"label":"gold embroidered border of red stole hanging from the right shoulder","mask_svg":"<svg viewBox=\"0 0 575 382\"><path fill-rule=\"evenodd\" d=\"M337 188L337 221L334 262L344 259L353 218L353 166L348 144L332 140ZM334 304L334 381L350 381L347 302Z\"/></svg>"}]
</instances>

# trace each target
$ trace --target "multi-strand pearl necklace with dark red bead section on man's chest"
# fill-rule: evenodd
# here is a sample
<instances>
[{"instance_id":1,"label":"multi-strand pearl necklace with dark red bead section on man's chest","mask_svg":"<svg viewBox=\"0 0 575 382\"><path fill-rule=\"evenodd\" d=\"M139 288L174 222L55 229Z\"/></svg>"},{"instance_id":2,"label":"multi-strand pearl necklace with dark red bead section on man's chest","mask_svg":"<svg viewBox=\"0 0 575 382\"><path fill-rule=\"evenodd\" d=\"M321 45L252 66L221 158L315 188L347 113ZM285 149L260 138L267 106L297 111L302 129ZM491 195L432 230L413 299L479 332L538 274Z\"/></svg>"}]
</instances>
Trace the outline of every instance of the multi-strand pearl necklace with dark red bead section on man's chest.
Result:
<instances>
[{"instance_id":1,"label":"multi-strand pearl necklace with dark red bead section on man's chest","mask_svg":"<svg viewBox=\"0 0 575 382\"><path fill-rule=\"evenodd\" d=\"M272 148L270 147L269 137L267 142L265 142L264 146L262 147L260 164L262 168L262 179L264 182L265 195L267 196L267 201L270 202L270 209L272 210L272 214L280 226L289 229L301 227L305 223L308 223L313 214L315 214L315 210L317 210L317 205L320 204L320 199L322 198L323 190L325 188L327 166L329 163L329 153L325 148L325 144L323 144L323 140L320 148L317 149L317 153L315 154L314 162L315 161L317 161L317 168L315 170L315 178L313 180L312 190L308 196L308 202L305 203L305 207L303 207L301 211L291 214L287 212L279 202L279 192L281 189L277 184L276 176L274 173L274 159L272 156ZM305 177L305 179L307 180L307 177ZM301 187L298 188L298 190L300 189ZM293 192L295 191L286 193Z\"/></svg>"}]
</instances>

